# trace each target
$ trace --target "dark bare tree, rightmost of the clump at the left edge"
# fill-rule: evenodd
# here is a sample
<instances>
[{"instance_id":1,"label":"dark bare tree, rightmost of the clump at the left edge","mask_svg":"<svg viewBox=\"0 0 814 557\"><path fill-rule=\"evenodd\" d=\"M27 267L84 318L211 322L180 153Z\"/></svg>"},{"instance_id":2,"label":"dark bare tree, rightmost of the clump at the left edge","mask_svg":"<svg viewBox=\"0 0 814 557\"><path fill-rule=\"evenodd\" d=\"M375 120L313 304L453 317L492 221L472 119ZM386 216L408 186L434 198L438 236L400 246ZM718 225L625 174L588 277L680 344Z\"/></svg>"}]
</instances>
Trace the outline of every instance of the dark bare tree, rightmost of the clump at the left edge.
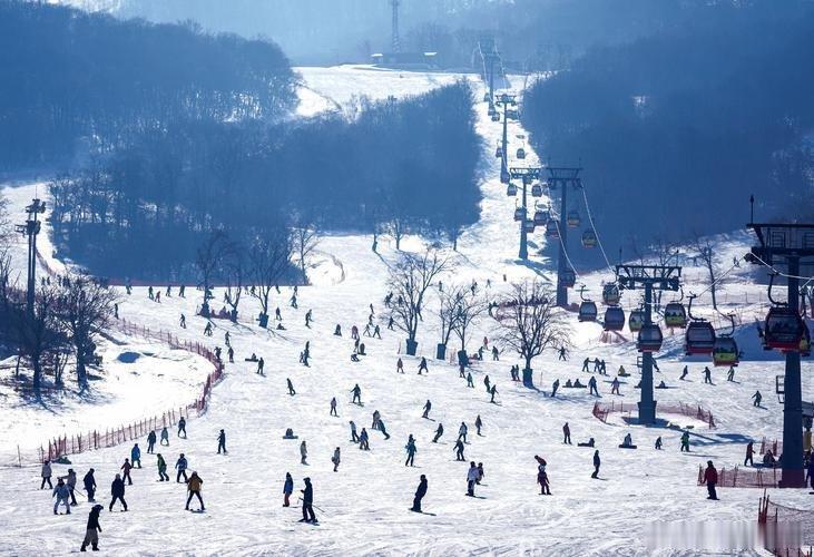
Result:
<instances>
[{"instance_id":1,"label":"dark bare tree, rightmost of the clump at the left edge","mask_svg":"<svg viewBox=\"0 0 814 557\"><path fill-rule=\"evenodd\" d=\"M88 388L87 367L92 363L96 341L114 315L116 293L87 275L69 275L57 300L57 319L67 333L77 361L79 389Z\"/></svg>"}]
</instances>

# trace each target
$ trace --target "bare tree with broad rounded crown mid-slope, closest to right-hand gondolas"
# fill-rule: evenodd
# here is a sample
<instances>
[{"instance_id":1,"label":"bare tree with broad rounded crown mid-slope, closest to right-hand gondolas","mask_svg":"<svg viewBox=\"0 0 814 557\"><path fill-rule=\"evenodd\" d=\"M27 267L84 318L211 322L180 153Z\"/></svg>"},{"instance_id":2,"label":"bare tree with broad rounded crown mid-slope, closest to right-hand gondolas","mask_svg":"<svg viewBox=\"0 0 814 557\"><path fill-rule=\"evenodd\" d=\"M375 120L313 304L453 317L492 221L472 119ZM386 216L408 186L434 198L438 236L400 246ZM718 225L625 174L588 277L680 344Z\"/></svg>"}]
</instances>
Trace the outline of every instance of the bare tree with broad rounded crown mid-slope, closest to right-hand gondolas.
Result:
<instances>
[{"instance_id":1,"label":"bare tree with broad rounded crown mid-slope, closest to right-hand gondolas","mask_svg":"<svg viewBox=\"0 0 814 557\"><path fill-rule=\"evenodd\" d=\"M571 328L565 310L543 283L514 283L496 311L500 342L526 362L523 384L533 387L531 361L546 349L569 346Z\"/></svg>"}]
</instances>

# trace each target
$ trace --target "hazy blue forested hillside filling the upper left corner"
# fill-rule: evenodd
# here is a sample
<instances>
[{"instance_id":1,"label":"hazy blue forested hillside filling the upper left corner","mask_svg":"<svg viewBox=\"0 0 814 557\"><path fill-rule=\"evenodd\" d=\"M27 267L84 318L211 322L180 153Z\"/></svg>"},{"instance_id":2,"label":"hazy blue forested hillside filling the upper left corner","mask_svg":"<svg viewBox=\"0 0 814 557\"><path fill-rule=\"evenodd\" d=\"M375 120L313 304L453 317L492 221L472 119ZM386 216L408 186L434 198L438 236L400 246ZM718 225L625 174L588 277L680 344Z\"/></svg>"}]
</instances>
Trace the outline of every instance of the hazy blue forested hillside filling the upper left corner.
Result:
<instances>
[{"instance_id":1,"label":"hazy blue forested hillside filling the upper left corner","mask_svg":"<svg viewBox=\"0 0 814 557\"><path fill-rule=\"evenodd\" d=\"M178 119L275 119L296 77L269 41L0 0L0 170L109 153Z\"/></svg>"}]
</instances>

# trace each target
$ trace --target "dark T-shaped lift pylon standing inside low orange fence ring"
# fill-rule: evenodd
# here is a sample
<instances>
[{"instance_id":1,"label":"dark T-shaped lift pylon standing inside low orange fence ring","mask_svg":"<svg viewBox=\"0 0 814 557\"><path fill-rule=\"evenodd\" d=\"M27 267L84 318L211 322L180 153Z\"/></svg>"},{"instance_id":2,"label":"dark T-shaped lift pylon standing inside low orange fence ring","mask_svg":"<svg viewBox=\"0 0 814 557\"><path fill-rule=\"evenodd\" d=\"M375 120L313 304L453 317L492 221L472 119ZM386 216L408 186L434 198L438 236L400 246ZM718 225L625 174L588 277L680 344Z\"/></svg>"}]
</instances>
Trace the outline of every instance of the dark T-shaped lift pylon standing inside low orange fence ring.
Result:
<instances>
[{"instance_id":1,"label":"dark T-shaped lift pylon standing inside low orange fence ring","mask_svg":"<svg viewBox=\"0 0 814 557\"><path fill-rule=\"evenodd\" d=\"M676 292L680 287L681 267L669 265L617 265L619 287L645 290L645 323L653 324L653 291ZM653 352L641 353L641 384L639 400L639 423L656 422L656 399L653 393Z\"/></svg>"}]
</instances>

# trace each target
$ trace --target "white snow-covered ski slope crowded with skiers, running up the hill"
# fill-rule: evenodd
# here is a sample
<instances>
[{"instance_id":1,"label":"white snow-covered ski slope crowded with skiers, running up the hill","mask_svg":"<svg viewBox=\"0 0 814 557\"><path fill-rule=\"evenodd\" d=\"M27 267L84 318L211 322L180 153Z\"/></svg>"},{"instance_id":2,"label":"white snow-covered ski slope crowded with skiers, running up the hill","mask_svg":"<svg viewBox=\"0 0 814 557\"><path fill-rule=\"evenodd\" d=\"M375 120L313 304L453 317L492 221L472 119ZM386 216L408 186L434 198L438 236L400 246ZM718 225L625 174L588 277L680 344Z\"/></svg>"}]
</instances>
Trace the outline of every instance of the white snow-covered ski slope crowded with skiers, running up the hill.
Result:
<instances>
[{"instance_id":1,"label":"white snow-covered ski slope crowded with skiers, running up the hill","mask_svg":"<svg viewBox=\"0 0 814 557\"><path fill-rule=\"evenodd\" d=\"M366 69L313 71L318 75L313 84L307 72L303 72L310 87L325 91L336 101L347 98L347 91L360 89L360 84L369 88L360 92L386 96L405 79L399 72L388 71L376 71L375 78L369 79ZM416 84L414 92L445 79L433 76L431 81L411 75ZM479 95L482 98L482 90ZM478 102L477 110L478 129L484 138L482 217L465 231L459 253L448 254L457 268L443 281L469 284L475 280L484 289L487 280L491 280L491 289L498 290L504 287L503 273L509 280L538 275L550 280L552 265L536 255L536 251L532 250L529 264L520 265L516 260L518 232L511 219L513 199L506 197L504 186L499 184L498 159L493 157L501 125L489 120L483 104ZM512 124L510 137L522 134L516 126ZM28 202L33 187L7 190L12 196L13 211L19 212ZM541 246L540 236L538 233L533 237ZM722 261L728 261L730 253L743 254L748 241L741 235L725 240L720 244ZM421 238L410 237L402 247L421 251L424 244ZM715 369L715 385L705 385L702 377L705 363L685 362L671 348L678 340L668 339L666 353L671 355L659 361L661 373L656 374L656 380L664 379L670 389L657 391L659 403L697 402L714 412L717 423L717 429L709 430L680 417L663 416L677 424L695 426L690 434L693 452L679 453L678 430L626 427L618 420L609 420L609 424L599 422L591 416L595 399L586 390L561 389L551 399L545 392L512 383L509 367L517 360L508 352L503 352L500 362L475 364L475 388L468 389L454 367L432 360L439 336L432 316L432 295L419 333L419 352L428 356L430 372L418 375L419 360L402 356L405 373L398 374L395 362L399 352L403 352L403 335L388 331L381 315L388 268L398 257L394 246L386 238L381 241L381 255L377 255L371 251L370 237L335 234L321 240L318 252L314 261L315 285L300 289L300 309L287 305L288 289L283 289L275 299L283 312L285 331L257 328L249 316L257 313L258 306L245 301L241 305L241 323L217 321L214 336L206 339L205 321L193 316L200 303L199 293L194 289L188 289L184 301L170 297L160 304L149 301L145 289L135 289L131 296L125 296L120 304L124 317L171 330L182 339L206 342L214 348L223 345L228 331L238 363L227 365L225 379L215 388L206 414L190 420L189 438L184 440L173 434L170 447L158 448L170 467L179 452L187 456L190 468L204 479L206 512L185 512L184 487L175 481L158 482L155 458L144 455L145 468L134 470L135 485L127 489L129 512L109 514L106 509L101 516L104 550L115 555L692 555L695 551L648 547L648 528L659 522L688 520L724 534L733 524L755 522L757 490L723 489L719 490L722 500L709 502L704 488L695 485L699 465L712 459L717 466L729 468L743 461L747 439L775 438L781 432L781 405L773 392L782 364L776 358L765 360L754 343L745 346L749 361L738 368L736 382L726 382L725 371ZM748 271L743 265L729 273L723 291L730 300L745 295L759 300L764 287L752 283ZM596 299L607 276L607 272L587 273L579 281L591 289ZM696 292L705 289L700 284L700 268L688 268L686 276L692 283L688 289ZM215 295L220 300L222 292ZM708 297L702 297L700 302L708 304ZM376 311L376 322L382 325L383 339L363 338L369 355L353 363L350 329L354 324L360 330L364 326L370 303ZM625 304L631 306L635 301L626 299ZM215 304L215 309L219 305ZM314 316L311 329L304 325L308 310L313 310ZM751 306L743 321L749 322L759 311L759 305ZM177 326L180 313L188 317L186 330ZM337 323L344 332L342 338L332 334ZM484 320L473 331L469 349L475 350L484 335L491 339L492 334L492 324ZM535 381L540 389L549 391L555 379L565 383L568 378L580 378L586 383L588 374L580 372L581 360L598 356L607 360L610 373L608 378L598 378L600 400L636 402L636 351L630 343L604 344L599 336L598 325L578 324L575 316L573 339L578 348L570 354L570 361L558 362L555 353L547 353L535 362ZM297 363L306 341L311 342L310 368ZM140 350L158 353L161 349L156 345ZM255 373L253 363L243 361L252 352L265 359L265 377ZM689 381L678 381L686 363L690 369ZM615 397L609 394L609 381L620 364L632 377L622 381L621 397ZM165 370L164 365L157 364L156 375ZM124 365L110 370L107 381L126 373L119 368ZM207 371L202 362L198 377ZM814 388L808 361L803 373L804 398L811 400ZM486 393L487 374L498 385L498 404L491 404ZM287 393L286 378L293 381L296 395ZM111 400L72 404L70 413L99 412L98 417L115 426L127 421L121 416L125 402L144 404L146 414L150 416L150 404L159 391L161 397L177 397L177 403L187 401L183 388L170 382L154 383L158 379L151 375L143 375L139 381L130 397L122 394ZM350 390L356 383L362 388L362 407L350 403ZM749 397L756 389L764 393L762 409L751 407ZM4 443L39 444L40 436L33 436L23 423L31 419L32 410L16 410L17 401L11 397L9 393L2 402ZM339 401L339 418L328 416L332 397ZM428 399L433 404L431 420L421 418ZM94 410L86 410L90 405ZM360 430L369 428L374 410L382 413L392 437L384 440L380 432L369 429L371 451L361 451L350 442L347 421L354 420ZM482 437L475 434L473 426L479 414L484 424ZM6 421L6 416L12 418ZM59 423L67 420L63 416L50 421L48 427L42 427L41 437L61 431ZM439 422L443 423L445 433L439 443L432 443ZM479 497L474 499L464 496L469 465L455 462L452 451L461 422L470 429L467 460L483 462L486 469L483 485L477 488ZM565 422L570 424L573 446L562 444ZM228 438L227 456L216 453L216 436L222 428ZM293 428L298 440L284 440L286 428ZM632 434L638 450L617 448L626 432ZM404 467L404 444L411 433L419 449L415 468ZM660 452L653 450L658 436L665 446ZM589 437L596 439L602 458L599 480L590 479L594 451L576 446ZM307 466L300 463L301 440L307 443ZM146 449L146 439L139 446ZM342 463L333 472L331 456L336 447L342 450ZM120 446L71 457L71 467L80 478L89 467L96 469L99 500L105 505L109 482L129 456L129 448ZM551 497L538 495L535 455L548 461ZM65 473L67 468L56 466L55 473ZM303 488L302 479L312 478L320 526L298 524L298 509L282 507L286 471L295 479L293 500L296 490ZM429 479L423 508L434 516L406 510L422 473ZM37 490L38 476L36 466L0 469L0 497L4 500L0 507L0 524L4 526L0 529L0 553L62 555L79 547L90 505L79 497L80 505L70 517L55 517L50 494ZM175 475L170 476L174 480ZM796 508L811 505L804 491L775 491L772 496L775 501Z\"/></svg>"}]
</instances>

